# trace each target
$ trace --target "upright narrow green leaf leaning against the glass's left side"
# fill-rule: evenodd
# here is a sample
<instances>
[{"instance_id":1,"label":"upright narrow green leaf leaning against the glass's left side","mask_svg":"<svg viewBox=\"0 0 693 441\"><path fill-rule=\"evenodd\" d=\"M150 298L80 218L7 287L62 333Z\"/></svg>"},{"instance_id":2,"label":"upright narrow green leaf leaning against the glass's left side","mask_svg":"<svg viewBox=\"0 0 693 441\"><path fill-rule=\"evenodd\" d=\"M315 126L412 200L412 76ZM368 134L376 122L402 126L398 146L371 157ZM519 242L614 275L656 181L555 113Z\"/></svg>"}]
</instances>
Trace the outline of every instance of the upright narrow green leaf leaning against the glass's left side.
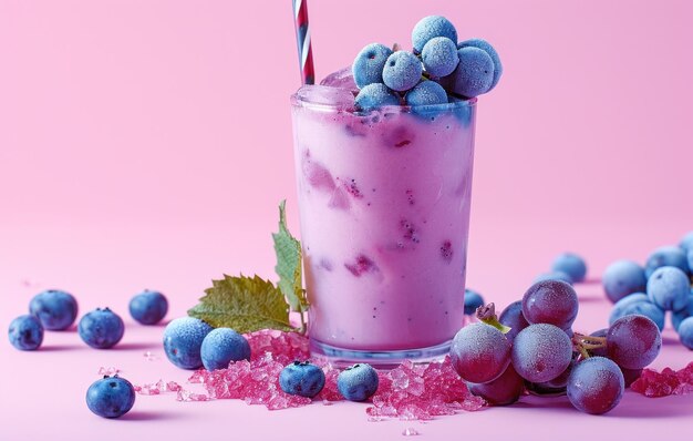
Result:
<instances>
[{"instance_id":1,"label":"upright narrow green leaf leaning against the glass's left side","mask_svg":"<svg viewBox=\"0 0 693 441\"><path fill-rule=\"evenodd\" d=\"M287 228L286 201L279 204L279 233L272 233L279 276L277 287L287 298L291 310L302 314L308 310L308 299L302 285L301 243Z\"/></svg>"}]
</instances>

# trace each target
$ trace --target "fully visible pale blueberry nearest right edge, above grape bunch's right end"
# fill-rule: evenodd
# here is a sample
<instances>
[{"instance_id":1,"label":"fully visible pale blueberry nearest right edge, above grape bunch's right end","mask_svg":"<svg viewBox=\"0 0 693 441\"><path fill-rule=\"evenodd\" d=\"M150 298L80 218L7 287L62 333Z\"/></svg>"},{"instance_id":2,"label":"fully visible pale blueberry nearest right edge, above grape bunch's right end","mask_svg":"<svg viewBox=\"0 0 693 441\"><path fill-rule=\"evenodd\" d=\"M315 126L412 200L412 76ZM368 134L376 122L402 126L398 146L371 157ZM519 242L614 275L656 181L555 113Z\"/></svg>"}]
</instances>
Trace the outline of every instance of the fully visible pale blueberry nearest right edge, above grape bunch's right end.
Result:
<instances>
[{"instance_id":1,"label":"fully visible pale blueberry nearest right edge, above grape bunch's right end","mask_svg":"<svg viewBox=\"0 0 693 441\"><path fill-rule=\"evenodd\" d=\"M648 279L648 297L660 308L678 311L689 304L691 280L680 268L663 266L656 268Z\"/></svg>"}]
</instances>

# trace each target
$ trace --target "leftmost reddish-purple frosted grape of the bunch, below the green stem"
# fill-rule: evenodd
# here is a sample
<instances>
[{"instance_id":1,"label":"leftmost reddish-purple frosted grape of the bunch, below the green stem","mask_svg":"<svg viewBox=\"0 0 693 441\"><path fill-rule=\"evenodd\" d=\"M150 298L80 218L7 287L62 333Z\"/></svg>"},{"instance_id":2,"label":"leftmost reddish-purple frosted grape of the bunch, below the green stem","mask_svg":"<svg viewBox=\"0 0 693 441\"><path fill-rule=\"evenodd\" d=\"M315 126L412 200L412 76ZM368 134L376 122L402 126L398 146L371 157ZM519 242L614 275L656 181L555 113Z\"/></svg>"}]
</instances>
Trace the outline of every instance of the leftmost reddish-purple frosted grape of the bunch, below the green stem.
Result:
<instances>
[{"instance_id":1,"label":"leftmost reddish-purple frosted grape of the bunch, below the green stem","mask_svg":"<svg viewBox=\"0 0 693 441\"><path fill-rule=\"evenodd\" d=\"M500 377L510 363L510 342L492 326L472 324L455 335L449 355L463 380L484 383Z\"/></svg>"}]
</instances>

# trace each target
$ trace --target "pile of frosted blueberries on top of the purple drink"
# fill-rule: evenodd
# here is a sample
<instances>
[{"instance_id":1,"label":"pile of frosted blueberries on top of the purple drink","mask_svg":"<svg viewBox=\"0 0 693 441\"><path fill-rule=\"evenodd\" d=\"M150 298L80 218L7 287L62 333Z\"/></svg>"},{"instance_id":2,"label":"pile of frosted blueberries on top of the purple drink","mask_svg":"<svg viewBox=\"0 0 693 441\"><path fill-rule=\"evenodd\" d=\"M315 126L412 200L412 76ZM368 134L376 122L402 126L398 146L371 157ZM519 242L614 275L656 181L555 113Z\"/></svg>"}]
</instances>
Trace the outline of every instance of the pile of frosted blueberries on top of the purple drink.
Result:
<instances>
[{"instance_id":1,"label":"pile of frosted blueberries on top of the purple drink","mask_svg":"<svg viewBox=\"0 0 693 441\"><path fill-rule=\"evenodd\" d=\"M458 42L455 27L444 17L416 23L412 45L405 51L371 43L359 52L352 65L360 89L358 109L465 100L489 92L503 74L498 53L487 41Z\"/></svg>"}]
</instances>

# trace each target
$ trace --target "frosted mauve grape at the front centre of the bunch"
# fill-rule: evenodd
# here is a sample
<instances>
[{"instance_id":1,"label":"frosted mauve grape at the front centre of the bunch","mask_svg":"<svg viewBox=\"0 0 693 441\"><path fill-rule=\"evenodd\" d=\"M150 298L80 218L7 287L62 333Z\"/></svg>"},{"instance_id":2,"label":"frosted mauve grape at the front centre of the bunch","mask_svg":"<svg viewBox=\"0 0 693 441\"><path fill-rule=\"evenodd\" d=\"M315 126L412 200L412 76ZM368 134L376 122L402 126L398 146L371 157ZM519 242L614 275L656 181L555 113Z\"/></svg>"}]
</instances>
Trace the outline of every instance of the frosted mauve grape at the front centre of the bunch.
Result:
<instances>
[{"instance_id":1,"label":"frosted mauve grape at the front centre of the bunch","mask_svg":"<svg viewBox=\"0 0 693 441\"><path fill-rule=\"evenodd\" d=\"M527 381L554 380L568 368L571 359L570 338L554 325L530 325L513 341L513 366Z\"/></svg>"}]
</instances>

